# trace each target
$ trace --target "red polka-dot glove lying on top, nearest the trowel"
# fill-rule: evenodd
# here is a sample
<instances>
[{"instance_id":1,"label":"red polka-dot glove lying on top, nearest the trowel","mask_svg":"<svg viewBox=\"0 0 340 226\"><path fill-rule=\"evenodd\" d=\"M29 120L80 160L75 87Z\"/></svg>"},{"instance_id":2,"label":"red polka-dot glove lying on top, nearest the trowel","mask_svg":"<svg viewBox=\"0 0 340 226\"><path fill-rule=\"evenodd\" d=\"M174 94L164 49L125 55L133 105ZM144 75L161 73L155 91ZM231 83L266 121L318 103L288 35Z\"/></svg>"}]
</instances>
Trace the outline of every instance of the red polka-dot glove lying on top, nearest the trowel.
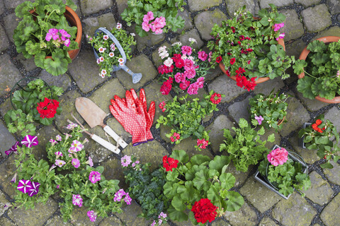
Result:
<instances>
[{"instance_id":1,"label":"red polka-dot glove lying on top, nearest the trowel","mask_svg":"<svg viewBox=\"0 0 340 226\"><path fill-rule=\"evenodd\" d=\"M125 131L132 135L132 144L138 145L147 141L145 114L142 106L135 105L135 101L130 93L126 91L126 100L115 95L115 100L111 100L110 110L115 119L124 127Z\"/></svg>"}]
</instances>

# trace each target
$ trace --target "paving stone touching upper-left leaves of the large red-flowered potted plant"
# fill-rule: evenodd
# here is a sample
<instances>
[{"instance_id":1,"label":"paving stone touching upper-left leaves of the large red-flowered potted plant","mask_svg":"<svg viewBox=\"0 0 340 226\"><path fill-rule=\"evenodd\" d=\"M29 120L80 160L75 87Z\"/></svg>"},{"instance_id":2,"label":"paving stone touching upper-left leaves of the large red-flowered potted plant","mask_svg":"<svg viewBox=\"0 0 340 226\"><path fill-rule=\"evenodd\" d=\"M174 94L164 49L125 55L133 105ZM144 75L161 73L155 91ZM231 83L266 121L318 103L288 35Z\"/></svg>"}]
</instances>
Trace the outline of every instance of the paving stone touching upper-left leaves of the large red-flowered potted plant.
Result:
<instances>
[{"instance_id":1,"label":"paving stone touching upper-left leaves of the large red-flowered potted plant","mask_svg":"<svg viewBox=\"0 0 340 226\"><path fill-rule=\"evenodd\" d=\"M215 23L220 25L222 20L227 20L227 16L225 16L225 13L222 13L218 8L214 11L204 11L193 18L196 28L200 32L200 36L203 40L212 39L210 36L211 28Z\"/></svg>"}]
</instances>

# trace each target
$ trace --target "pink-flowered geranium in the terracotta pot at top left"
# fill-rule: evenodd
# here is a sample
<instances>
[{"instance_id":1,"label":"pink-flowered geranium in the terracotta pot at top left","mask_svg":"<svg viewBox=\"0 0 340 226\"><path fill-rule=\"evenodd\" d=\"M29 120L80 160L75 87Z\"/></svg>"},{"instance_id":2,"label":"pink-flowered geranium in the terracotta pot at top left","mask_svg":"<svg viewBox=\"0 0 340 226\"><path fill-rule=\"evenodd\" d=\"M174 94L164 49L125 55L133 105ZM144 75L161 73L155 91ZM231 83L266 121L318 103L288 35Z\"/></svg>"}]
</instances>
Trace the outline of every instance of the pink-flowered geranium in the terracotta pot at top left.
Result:
<instances>
[{"instance_id":1,"label":"pink-flowered geranium in the terracotta pot at top left","mask_svg":"<svg viewBox=\"0 0 340 226\"><path fill-rule=\"evenodd\" d=\"M53 76L67 71L81 47L81 22L74 12L77 6L67 0L25 1L16 7L16 16L23 18L14 30L16 51Z\"/></svg>"}]
</instances>

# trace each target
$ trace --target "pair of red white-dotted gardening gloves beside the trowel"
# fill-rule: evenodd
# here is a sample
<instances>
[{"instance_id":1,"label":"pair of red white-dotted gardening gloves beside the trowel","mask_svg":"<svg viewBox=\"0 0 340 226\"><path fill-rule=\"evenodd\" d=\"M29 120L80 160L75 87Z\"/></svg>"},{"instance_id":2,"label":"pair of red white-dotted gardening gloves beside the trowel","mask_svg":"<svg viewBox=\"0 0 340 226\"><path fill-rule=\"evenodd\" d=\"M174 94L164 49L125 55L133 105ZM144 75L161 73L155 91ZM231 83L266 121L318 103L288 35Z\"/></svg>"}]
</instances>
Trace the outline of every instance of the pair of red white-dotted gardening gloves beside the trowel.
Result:
<instances>
[{"instance_id":1,"label":"pair of red white-dotted gardening gloves beside the trowel","mask_svg":"<svg viewBox=\"0 0 340 226\"><path fill-rule=\"evenodd\" d=\"M115 95L115 100L111 99L110 111L124 127L125 131L132 135L132 145L139 145L147 141L153 141L154 137L150 131L154 121L156 111L154 101L150 103L147 111L147 99L145 90L140 90L138 98L134 89L127 90L125 99Z\"/></svg>"}]
</instances>

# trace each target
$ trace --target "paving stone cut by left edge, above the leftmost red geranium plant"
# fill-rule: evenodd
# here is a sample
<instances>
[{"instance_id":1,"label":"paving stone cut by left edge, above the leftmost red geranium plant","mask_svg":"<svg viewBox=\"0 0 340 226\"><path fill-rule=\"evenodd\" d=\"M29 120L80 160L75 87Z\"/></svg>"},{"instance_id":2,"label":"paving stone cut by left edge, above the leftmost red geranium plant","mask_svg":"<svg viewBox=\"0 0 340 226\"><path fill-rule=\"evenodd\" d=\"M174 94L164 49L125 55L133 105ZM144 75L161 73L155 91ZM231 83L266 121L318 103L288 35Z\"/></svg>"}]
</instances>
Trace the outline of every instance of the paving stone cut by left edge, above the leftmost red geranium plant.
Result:
<instances>
[{"instance_id":1,"label":"paving stone cut by left edge, above the leftmost red geranium plant","mask_svg":"<svg viewBox=\"0 0 340 226\"><path fill-rule=\"evenodd\" d=\"M21 79L21 74L8 54L0 56L0 96L8 95L13 85Z\"/></svg>"}]
</instances>

